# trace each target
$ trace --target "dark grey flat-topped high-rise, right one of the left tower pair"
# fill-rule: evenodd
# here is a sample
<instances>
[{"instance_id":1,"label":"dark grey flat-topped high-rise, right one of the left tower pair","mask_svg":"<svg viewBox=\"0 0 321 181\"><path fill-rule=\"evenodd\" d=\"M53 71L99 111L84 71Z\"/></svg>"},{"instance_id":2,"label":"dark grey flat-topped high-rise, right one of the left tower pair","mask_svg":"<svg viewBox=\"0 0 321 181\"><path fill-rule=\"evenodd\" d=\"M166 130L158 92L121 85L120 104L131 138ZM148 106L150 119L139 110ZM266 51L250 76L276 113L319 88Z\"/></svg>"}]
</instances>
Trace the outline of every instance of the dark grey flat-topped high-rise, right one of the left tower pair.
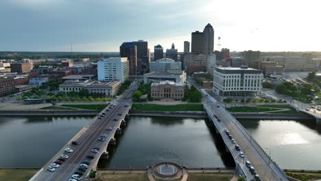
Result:
<instances>
[{"instance_id":1,"label":"dark grey flat-topped high-rise, right one of the left tower pair","mask_svg":"<svg viewBox=\"0 0 321 181\"><path fill-rule=\"evenodd\" d=\"M137 72L139 74L147 71L150 62L150 53L148 53L148 43L144 40L132 42L136 45L137 49Z\"/></svg>"}]
</instances>

